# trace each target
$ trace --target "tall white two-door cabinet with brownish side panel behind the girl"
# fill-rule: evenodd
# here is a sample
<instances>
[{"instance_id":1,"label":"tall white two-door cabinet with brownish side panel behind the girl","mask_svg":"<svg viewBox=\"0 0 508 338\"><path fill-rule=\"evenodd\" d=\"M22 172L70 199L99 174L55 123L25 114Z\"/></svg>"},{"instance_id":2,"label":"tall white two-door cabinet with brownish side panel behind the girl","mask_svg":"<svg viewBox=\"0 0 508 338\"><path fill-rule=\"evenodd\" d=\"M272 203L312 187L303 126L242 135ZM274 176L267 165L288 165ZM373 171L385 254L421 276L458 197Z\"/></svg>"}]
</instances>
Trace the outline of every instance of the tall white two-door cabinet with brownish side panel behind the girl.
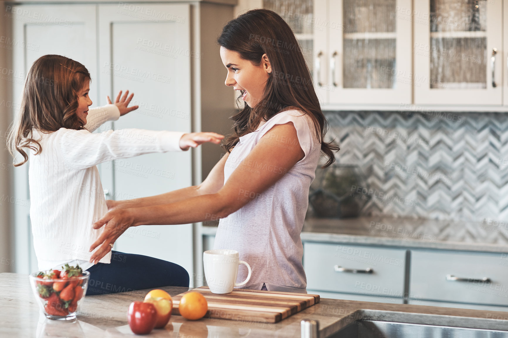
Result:
<instances>
[{"instance_id":1,"label":"tall white two-door cabinet with brownish side panel behind the girl","mask_svg":"<svg viewBox=\"0 0 508 338\"><path fill-rule=\"evenodd\" d=\"M233 89L217 35L233 17L233 2L87 4L13 3L13 69L20 75L13 96L21 96L31 64L44 54L61 54L90 71L93 106L105 105L119 90L135 93L140 108L98 130L141 128L228 133ZM52 21L48 22L51 18ZM56 20L56 21L55 21ZM24 46L24 47L23 47ZM30 48L28 48L28 46ZM220 159L221 148L203 145L186 152L147 154L99 165L106 198L132 199L199 184ZM16 272L37 270L29 255L27 169L15 168L15 189L26 206L15 210ZM198 224L139 226L117 240L115 250L145 254L182 265L191 276L202 266ZM199 253L196 254L195 253Z\"/></svg>"}]
</instances>

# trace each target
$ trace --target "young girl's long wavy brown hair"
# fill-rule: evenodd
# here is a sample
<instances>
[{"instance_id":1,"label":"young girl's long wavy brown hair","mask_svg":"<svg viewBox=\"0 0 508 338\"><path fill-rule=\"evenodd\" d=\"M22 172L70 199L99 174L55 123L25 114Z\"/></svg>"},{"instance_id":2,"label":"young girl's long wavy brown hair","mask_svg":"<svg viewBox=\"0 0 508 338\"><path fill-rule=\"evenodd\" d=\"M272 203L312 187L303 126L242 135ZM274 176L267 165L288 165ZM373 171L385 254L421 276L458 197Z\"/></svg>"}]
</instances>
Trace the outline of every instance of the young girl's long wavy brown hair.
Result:
<instances>
[{"instance_id":1,"label":"young girl's long wavy brown hair","mask_svg":"<svg viewBox=\"0 0 508 338\"><path fill-rule=\"evenodd\" d=\"M33 129L49 133L60 128L83 129L76 115L78 92L83 89L90 73L84 65L61 55L44 55L31 66L23 89L21 109L11 127L7 144L13 157L19 152L28 160L23 148L38 155L42 151L33 138Z\"/></svg>"}]
</instances>

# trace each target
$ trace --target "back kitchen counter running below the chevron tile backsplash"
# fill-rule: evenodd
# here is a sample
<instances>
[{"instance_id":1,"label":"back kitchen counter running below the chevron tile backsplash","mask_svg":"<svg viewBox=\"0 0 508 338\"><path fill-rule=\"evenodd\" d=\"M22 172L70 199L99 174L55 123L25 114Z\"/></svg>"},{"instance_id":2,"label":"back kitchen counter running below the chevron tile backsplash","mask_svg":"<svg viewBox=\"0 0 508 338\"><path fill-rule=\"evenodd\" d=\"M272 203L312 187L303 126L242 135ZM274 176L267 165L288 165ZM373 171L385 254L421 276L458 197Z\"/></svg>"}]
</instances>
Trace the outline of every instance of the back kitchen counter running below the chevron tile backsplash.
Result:
<instances>
[{"instance_id":1,"label":"back kitchen counter running below the chevron tile backsplash","mask_svg":"<svg viewBox=\"0 0 508 338\"><path fill-rule=\"evenodd\" d=\"M202 227L204 235L215 235L215 232L216 226ZM307 218L301 239L303 242L508 252L508 223L393 217Z\"/></svg>"}]
</instances>

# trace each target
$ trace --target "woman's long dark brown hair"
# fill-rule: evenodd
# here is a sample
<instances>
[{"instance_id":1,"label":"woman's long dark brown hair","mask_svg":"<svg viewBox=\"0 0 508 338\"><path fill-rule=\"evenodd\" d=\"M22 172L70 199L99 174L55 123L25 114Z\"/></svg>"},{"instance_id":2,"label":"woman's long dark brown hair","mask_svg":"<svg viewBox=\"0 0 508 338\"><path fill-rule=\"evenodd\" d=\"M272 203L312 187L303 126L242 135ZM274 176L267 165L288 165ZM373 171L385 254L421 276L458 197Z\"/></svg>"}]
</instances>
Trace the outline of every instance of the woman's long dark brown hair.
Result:
<instances>
[{"instance_id":1,"label":"woman's long dark brown hair","mask_svg":"<svg viewBox=\"0 0 508 338\"><path fill-rule=\"evenodd\" d=\"M230 152L241 136L256 130L261 121L290 109L308 114L321 142L321 151L328 158L323 167L335 161L339 147L325 142L328 122L321 111L319 100L312 85L312 78L300 46L290 26L275 12L266 9L248 11L228 22L217 43L238 52L244 60L260 65L266 53L272 73L265 86L260 102L231 117L234 134L226 139L224 148ZM240 99L238 97L237 101Z\"/></svg>"}]
</instances>

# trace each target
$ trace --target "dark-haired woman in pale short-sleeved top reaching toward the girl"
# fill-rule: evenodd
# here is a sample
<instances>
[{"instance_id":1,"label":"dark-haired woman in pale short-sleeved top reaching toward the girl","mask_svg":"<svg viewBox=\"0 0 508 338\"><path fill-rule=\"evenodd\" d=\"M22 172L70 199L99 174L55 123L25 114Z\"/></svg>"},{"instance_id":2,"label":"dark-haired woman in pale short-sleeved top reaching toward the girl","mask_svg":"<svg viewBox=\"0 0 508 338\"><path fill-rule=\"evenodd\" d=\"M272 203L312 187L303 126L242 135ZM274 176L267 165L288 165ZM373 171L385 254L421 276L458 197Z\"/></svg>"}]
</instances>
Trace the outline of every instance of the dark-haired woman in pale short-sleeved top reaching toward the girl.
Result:
<instances>
[{"instance_id":1,"label":"dark-haired woman in pale short-sleeved top reaching toward the girl","mask_svg":"<svg viewBox=\"0 0 508 338\"><path fill-rule=\"evenodd\" d=\"M242 93L245 108L232 117L228 153L199 186L139 201L109 201L94 224L105 231L91 246L97 261L124 229L141 224L185 224L220 219L214 249L233 249L252 267L242 288L306 292L300 239L309 186L323 152L327 121L310 72L287 23L269 10L230 21L218 38L226 85ZM241 266L237 282L245 279Z\"/></svg>"}]
</instances>

